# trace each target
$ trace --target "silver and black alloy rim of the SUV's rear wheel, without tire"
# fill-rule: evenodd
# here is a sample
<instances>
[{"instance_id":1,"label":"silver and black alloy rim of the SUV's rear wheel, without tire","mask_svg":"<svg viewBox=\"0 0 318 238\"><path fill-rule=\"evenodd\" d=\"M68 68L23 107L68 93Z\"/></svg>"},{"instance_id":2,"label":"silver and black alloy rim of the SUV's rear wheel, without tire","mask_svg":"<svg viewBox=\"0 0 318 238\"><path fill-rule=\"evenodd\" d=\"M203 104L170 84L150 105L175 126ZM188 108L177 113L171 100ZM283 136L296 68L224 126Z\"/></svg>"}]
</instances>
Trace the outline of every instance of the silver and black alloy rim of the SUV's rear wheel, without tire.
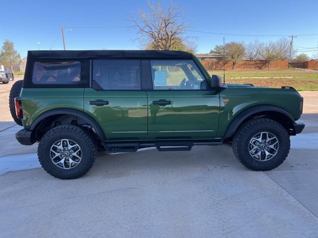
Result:
<instances>
[{"instance_id":1,"label":"silver and black alloy rim of the SUV's rear wheel, without tire","mask_svg":"<svg viewBox=\"0 0 318 238\"><path fill-rule=\"evenodd\" d=\"M57 140L50 149L50 157L57 167L69 170L79 165L82 151L79 145L69 139Z\"/></svg>"}]
</instances>

